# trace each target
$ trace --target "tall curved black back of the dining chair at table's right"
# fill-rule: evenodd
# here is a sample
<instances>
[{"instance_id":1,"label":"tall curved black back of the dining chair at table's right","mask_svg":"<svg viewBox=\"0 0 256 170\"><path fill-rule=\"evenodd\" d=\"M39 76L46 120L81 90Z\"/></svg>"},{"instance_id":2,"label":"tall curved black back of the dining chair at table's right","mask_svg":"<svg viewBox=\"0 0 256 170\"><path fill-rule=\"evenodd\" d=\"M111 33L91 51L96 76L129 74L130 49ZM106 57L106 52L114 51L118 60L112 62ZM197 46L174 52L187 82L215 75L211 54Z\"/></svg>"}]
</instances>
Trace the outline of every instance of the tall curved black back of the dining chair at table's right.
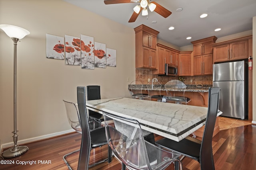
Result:
<instances>
[{"instance_id":1,"label":"tall curved black back of the dining chair at table's right","mask_svg":"<svg viewBox=\"0 0 256 170\"><path fill-rule=\"evenodd\" d=\"M220 88L218 87L209 88L208 113L200 149L200 165L202 170L215 169L212 154L212 135L219 107L219 91Z\"/></svg>"}]
</instances>

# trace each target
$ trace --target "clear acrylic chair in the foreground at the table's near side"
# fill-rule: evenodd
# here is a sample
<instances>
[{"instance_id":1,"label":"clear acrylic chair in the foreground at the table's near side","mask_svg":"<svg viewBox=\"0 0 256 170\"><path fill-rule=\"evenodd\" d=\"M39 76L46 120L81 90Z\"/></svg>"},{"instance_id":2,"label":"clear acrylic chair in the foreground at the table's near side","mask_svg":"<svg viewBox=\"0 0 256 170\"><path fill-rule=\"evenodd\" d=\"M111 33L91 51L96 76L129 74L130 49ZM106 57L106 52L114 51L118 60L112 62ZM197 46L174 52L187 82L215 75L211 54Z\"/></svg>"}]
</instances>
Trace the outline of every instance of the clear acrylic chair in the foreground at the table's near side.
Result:
<instances>
[{"instance_id":1,"label":"clear acrylic chair in the foreground at the table's near side","mask_svg":"<svg viewBox=\"0 0 256 170\"><path fill-rule=\"evenodd\" d=\"M122 170L162 170L173 161L178 160L179 154L160 149L144 140L138 121L103 113L105 119L113 119L106 123L106 138L116 157L122 162Z\"/></svg>"}]
</instances>

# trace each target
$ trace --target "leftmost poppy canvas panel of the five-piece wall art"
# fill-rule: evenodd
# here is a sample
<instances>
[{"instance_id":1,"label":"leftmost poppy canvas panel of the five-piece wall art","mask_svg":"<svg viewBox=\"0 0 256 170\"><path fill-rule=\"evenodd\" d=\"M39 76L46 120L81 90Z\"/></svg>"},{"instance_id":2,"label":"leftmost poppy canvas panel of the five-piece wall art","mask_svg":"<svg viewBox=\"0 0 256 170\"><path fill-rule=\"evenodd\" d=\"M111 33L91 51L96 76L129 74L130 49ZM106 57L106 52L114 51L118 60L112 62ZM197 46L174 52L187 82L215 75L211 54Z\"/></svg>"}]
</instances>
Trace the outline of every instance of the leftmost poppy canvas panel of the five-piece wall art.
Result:
<instances>
[{"instance_id":1,"label":"leftmost poppy canvas panel of the five-piece wall art","mask_svg":"<svg viewBox=\"0 0 256 170\"><path fill-rule=\"evenodd\" d=\"M46 34L46 58L64 60L64 37Z\"/></svg>"}]
</instances>

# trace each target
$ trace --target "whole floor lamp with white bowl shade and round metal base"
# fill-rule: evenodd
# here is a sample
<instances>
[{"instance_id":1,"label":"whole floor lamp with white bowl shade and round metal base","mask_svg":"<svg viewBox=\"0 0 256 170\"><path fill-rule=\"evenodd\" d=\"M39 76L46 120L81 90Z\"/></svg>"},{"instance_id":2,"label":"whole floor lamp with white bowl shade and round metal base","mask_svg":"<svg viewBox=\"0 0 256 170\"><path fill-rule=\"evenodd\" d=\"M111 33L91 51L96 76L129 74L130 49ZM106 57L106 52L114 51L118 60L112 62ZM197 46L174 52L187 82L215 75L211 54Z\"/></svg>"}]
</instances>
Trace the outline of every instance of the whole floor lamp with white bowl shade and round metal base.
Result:
<instances>
[{"instance_id":1,"label":"whole floor lamp with white bowl shade and round metal base","mask_svg":"<svg viewBox=\"0 0 256 170\"><path fill-rule=\"evenodd\" d=\"M5 24L0 24L0 29L2 29L13 41L14 44L14 111L13 111L13 118L14 118L14 131L12 132L14 135L13 137L13 142L14 146L5 150L2 153L2 156L4 158L12 158L18 155L23 154L28 150L28 147L26 146L18 146L17 141L18 141L18 131L17 131L17 113L16 113L16 61L17 61L17 42L24 38L26 35L30 34L30 32L26 29L16 27L13 25L5 25Z\"/></svg>"}]
</instances>

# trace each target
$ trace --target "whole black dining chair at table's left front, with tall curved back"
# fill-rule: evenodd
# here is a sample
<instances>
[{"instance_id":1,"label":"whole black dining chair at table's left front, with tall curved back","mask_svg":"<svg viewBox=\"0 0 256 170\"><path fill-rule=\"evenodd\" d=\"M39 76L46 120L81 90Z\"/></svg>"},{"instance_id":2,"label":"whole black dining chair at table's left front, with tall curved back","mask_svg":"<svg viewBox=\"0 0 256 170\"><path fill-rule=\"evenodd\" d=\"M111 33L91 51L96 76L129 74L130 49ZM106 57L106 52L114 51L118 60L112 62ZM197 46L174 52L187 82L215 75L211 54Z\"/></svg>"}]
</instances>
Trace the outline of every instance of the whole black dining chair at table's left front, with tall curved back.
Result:
<instances>
[{"instance_id":1,"label":"whole black dining chair at table's left front, with tall curved back","mask_svg":"<svg viewBox=\"0 0 256 170\"><path fill-rule=\"evenodd\" d=\"M112 150L108 145L108 158L89 166L91 149L107 145L108 142L106 140L105 127L99 127L90 131L86 112L85 87L77 87L77 103L81 122L80 126L82 128L82 141L77 169L87 170L89 167L105 161L110 163Z\"/></svg>"}]
</instances>

